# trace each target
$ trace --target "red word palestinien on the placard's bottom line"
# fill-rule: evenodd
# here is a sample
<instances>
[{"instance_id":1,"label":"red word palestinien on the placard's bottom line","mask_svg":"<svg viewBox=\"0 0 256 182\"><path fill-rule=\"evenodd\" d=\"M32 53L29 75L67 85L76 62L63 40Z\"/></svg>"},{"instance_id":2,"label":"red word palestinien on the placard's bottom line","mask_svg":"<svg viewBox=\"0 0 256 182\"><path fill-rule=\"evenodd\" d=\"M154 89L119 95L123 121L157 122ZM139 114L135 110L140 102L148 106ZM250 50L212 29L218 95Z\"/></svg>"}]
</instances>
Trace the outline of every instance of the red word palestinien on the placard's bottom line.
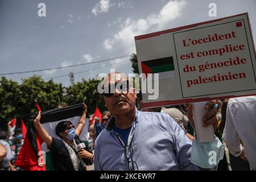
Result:
<instances>
[{"instance_id":1,"label":"red word palestinien on the placard's bottom line","mask_svg":"<svg viewBox=\"0 0 256 182\"><path fill-rule=\"evenodd\" d=\"M214 75L213 77L208 78L202 78L201 76L197 77L197 79L194 80L187 80L187 87L191 87L191 85L197 85L197 84L207 84L210 82L218 82L218 81L226 81L226 80L236 80L240 78L246 78L245 73L228 73L228 75L220 75L219 73L217 75Z\"/></svg>"}]
</instances>

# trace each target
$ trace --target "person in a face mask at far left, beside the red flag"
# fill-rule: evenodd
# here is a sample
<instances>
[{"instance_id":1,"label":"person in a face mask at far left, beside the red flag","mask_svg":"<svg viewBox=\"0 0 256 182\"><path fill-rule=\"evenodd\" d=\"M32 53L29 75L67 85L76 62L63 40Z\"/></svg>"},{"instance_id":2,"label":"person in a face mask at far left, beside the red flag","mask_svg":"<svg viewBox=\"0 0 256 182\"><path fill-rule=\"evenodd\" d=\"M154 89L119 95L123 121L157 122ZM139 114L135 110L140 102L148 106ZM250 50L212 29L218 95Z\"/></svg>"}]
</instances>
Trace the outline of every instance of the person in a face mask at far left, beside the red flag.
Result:
<instances>
[{"instance_id":1,"label":"person in a face mask at far left, beside the red flag","mask_svg":"<svg viewBox=\"0 0 256 182\"><path fill-rule=\"evenodd\" d=\"M22 129L16 129L14 131L13 139L9 140L9 143L11 146L11 154L14 155L13 160L10 161L10 168L12 171L22 170L21 168L14 166L15 160L19 155L19 151L22 148L24 143Z\"/></svg>"}]
</instances>

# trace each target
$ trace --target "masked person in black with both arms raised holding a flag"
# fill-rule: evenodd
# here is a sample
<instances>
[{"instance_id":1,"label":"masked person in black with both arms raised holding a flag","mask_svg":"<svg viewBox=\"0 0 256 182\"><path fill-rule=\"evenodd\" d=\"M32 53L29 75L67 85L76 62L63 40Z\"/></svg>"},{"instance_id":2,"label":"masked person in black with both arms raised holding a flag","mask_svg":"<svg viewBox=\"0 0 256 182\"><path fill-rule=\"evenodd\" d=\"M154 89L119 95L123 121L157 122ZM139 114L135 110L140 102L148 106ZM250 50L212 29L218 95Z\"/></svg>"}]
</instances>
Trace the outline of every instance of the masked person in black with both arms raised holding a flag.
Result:
<instances>
[{"instance_id":1,"label":"masked person in black with both arms raised holding a flag","mask_svg":"<svg viewBox=\"0 0 256 182\"><path fill-rule=\"evenodd\" d=\"M53 165L56 171L78 171L82 156L88 151L82 149L76 152L77 143L76 137L79 137L84 125L87 106L83 104L84 111L82 112L79 124L76 129L70 121L61 121L55 127L55 133L59 138L51 137L40 123L41 112L34 119L34 127L40 137L46 142L49 150L52 152ZM90 152L88 152L90 156Z\"/></svg>"}]
</instances>

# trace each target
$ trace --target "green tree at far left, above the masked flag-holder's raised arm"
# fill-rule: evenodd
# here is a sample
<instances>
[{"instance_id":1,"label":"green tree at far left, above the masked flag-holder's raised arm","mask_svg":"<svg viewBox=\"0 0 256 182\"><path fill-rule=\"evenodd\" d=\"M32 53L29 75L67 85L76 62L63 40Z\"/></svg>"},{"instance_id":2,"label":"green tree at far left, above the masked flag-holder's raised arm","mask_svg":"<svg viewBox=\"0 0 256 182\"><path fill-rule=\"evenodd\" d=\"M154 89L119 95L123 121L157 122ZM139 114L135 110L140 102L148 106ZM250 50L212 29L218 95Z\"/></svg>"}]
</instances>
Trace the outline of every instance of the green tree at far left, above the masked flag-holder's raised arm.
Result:
<instances>
[{"instance_id":1,"label":"green tree at far left, above the masked flag-holder's raised arm","mask_svg":"<svg viewBox=\"0 0 256 182\"><path fill-rule=\"evenodd\" d=\"M63 86L52 80L44 81L40 76L22 80L22 84L0 80L0 128L6 129L7 122L22 118L26 123L30 115L37 111L37 100L42 110L55 109L63 102Z\"/></svg>"}]
</instances>

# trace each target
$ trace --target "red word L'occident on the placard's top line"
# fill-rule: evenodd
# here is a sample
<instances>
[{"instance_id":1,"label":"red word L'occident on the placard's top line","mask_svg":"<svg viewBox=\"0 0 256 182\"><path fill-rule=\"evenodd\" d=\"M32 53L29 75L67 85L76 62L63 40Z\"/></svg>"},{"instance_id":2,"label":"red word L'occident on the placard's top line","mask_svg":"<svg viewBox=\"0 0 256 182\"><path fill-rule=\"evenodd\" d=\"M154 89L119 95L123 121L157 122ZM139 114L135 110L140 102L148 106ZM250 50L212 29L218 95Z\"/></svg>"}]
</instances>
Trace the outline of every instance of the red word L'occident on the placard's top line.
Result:
<instances>
[{"instance_id":1,"label":"red word L'occident on the placard's top line","mask_svg":"<svg viewBox=\"0 0 256 182\"><path fill-rule=\"evenodd\" d=\"M232 31L231 33L228 33L228 34L219 34L219 35L214 34L213 36L208 35L206 38L200 38L200 39L191 40L189 38L187 41L182 40L182 42L183 42L183 47L186 47L186 46L190 46L191 44L192 45L203 44L203 43L214 42L214 41L224 40L224 39L232 39L232 38L236 38L234 31Z\"/></svg>"}]
</instances>

